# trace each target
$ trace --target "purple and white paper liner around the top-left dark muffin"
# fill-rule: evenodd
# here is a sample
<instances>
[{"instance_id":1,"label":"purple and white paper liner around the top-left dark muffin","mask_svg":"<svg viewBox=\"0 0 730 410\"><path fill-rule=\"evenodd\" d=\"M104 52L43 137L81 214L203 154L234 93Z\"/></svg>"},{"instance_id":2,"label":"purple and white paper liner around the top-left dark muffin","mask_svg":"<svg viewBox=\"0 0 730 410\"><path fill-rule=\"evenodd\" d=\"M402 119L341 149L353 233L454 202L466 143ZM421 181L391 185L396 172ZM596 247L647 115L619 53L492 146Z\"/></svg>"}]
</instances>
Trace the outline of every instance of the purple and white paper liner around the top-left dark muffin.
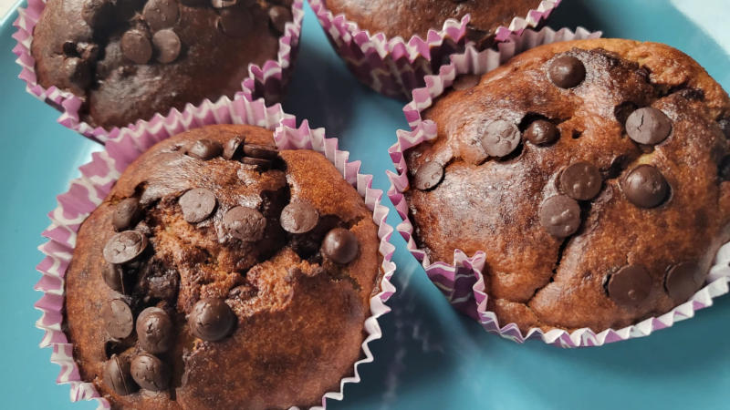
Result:
<instances>
[{"instance_id":1,"label":"purple and white paper liner around the top-left dark muffin","mask_svg":"<svg viewBox=\"0 0 730 410\"><path fill-rule=\"evenodd\" d=\"M18 77L26 82L26 91L53 108L61 112L57 122L64 127L71 128L79 134L100 143L106 143L110 138L120 135L122 128L140 128L145 121L139 120L126 127L114 127L105 129L93 127L81 120L79 109L82 100L74 94L57 87L42 87L38 84L36 77L36 59L30 51L33 42L33 30L40 19L43 9L46 8L47 0L27 0L26 7L17 8L17 18L13 26L17 27L13 38L16 39L16 46L13 53L17 56L16 63L21 67ZM265 97L266 102L273 104L283 96L289 77L291 77L294 61L297 56L299 36L302 30L302 19L304 18L304 0L294 0L292 5L293 19L285 26L285 32L279 37L279 48L276 54L276 61L267 60L263 67L255 64L248 66L248 77L241 82L241 91L254 97ZM205 99L197 105L210 103ZM193 107L188 104L185 109ZM170 112L176 111L172 108ZM158 113L167 115L168 113ZM141 124L142 123L142 124Z\"/></svg>"}]
</instances>

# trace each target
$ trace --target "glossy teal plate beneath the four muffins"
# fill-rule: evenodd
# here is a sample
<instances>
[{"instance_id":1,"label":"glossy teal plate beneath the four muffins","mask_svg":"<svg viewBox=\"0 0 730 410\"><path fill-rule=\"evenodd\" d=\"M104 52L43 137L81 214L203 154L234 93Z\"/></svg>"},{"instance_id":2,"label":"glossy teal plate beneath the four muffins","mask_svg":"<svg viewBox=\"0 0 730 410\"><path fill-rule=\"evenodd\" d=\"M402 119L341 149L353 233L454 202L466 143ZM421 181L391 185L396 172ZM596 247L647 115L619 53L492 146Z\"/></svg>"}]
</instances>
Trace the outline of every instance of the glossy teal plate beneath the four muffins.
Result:
<instances>
[{"instance_id":1,"label":"glossy teal plate beneath the four muffins","mask_svg":"<svg viewBox=\"0 0 730 410\"><path fill-rule=\"evenodd\" d=\"M57 111L26 94L11 53L15 18L0 29L0 408L94 408L70 403L68 386L54 383L59 367L48 361L50 350L37 347L42 333L33 303L40 293L33 284L46 214L99 146L58 125ZM549 23L675 46L730 89L728 20L727 0L564 0ZM374 185L388 188L387 149L395 130L406 127L402 104L349 75L308 6L284 106L340 137L350 158L375 175ZM399 222L395 212L389 222ZM363 382L348 385L345 400L329 401L329 408L730 408L728 297L642 339L578 350L516 344L454 312L397 234L393 241L399 292L381 320L384 337L370 344L375 363L362 366Z\"/></svg>"}]
</instances>

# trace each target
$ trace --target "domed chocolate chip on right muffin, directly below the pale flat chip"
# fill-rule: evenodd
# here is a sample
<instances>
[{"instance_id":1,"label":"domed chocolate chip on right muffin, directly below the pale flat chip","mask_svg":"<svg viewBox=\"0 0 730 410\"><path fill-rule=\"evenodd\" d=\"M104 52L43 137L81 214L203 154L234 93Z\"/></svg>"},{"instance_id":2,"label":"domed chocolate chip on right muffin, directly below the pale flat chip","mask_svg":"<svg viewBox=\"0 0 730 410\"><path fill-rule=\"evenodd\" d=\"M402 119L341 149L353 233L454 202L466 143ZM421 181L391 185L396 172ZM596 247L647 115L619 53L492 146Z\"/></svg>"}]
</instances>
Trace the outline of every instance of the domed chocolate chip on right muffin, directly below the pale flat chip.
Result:
<instances>
[{"instance_id":1,"label":"domed chocolate chip on right muffin, directly below the pale flat chip","mask_svg":"<svg viewBox=\"0 0 730 410\"><path fill-rule=\"evenodd\" d=\"M651 165L642 164L631 169L621 183L626 198L641 208L653 208L667 198L669 184L662 172Z\"/></svg>"}]
</instances>

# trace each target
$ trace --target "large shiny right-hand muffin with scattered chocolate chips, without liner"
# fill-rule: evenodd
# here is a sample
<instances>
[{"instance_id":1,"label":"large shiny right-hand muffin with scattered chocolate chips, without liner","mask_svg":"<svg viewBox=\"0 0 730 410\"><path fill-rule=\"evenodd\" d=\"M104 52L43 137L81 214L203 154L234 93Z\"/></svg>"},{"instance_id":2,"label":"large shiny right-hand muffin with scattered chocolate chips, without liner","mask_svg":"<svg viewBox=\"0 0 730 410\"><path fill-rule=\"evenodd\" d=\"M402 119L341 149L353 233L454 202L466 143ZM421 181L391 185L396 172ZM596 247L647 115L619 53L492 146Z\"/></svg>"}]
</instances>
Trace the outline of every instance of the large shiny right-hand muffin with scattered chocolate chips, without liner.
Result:
<instances>
[{"instance_id":1,"label":"large shiny right-hand muffin with scattered chocolate chips, without liner","mask_svg":"<svg viewBox=\"0 0 730 410\"><path fill-rule=\"evenodd\" d=\"M670 46L539 46L422 115L437 137L406 152L416 241L432 261L484 251L500 325L666 313L730 240L730 100Z\"/></svg>"}]
</instances>

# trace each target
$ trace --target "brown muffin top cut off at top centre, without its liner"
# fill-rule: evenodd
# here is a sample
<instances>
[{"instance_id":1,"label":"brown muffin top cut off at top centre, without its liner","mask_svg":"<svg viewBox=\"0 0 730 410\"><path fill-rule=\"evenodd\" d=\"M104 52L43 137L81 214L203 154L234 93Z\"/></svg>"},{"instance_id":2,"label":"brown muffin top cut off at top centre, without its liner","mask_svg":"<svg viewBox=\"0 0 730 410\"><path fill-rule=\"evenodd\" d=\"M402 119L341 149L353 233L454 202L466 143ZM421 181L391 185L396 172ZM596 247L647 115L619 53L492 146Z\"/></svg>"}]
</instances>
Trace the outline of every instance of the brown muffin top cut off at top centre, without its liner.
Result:
<instances>
[{"instance_id":1,"label":"brown muffin top cut off at top centre, without its liner","mask_svg":"<svg viewBox=\"0 0 730 410\"><path fill-rule=\"evenodd\" d=\"M515 17L525 17L539 0L324 0L333 15L344 14L363 30L426 38L429 29L441 30L448 18L461 20L471 14L466 36L480 46L489 46L499 26L509 26Z\"/></svg>"}]
</instances>

